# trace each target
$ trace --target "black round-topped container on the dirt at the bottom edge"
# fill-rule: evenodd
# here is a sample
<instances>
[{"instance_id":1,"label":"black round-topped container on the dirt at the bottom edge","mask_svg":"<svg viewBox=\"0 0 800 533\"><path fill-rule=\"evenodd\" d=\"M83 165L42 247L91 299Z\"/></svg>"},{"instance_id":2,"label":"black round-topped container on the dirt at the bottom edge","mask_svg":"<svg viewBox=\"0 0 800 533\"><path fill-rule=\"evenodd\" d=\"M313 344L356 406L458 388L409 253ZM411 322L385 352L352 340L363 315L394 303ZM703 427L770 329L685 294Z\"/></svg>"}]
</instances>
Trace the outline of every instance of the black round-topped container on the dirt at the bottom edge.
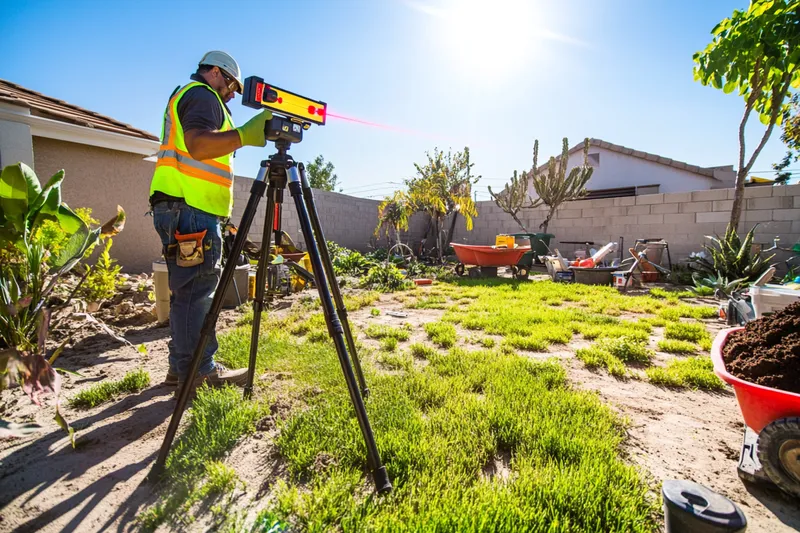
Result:
<instances>
[{"instance_id":1,"label":"black round-topped container on the dirt at the bottom edge","mask_svg":"<svg viewBox=\"0 0 800 533\"><path fill-rule=\"evenodd\" d=\"M740 533L747 518L731 500L711 489L679 479L661 487L667 533Z\"/></svg>"}]
</instances>

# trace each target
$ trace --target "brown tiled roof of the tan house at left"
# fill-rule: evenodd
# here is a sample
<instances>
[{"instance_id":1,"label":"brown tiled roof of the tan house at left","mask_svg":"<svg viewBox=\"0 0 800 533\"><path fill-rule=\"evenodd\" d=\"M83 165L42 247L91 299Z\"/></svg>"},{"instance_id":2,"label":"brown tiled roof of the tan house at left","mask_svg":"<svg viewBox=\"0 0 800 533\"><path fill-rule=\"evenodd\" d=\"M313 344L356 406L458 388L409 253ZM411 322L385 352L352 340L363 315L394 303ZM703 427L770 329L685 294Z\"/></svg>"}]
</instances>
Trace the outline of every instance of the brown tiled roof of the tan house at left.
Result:
<instances>
[{"instance_id":1,"label":"brown tiled roof of the tan house at left","mask_svg":"<svg viewBox=\"0 0 800 533\"><path fill-rule=\"evenodd\" d=\"M32 115L38 117L149 141L159 140L157 136L148 131L134 128L130 124L125 124L57 98L45 96L3 79L0 79L0 102L27 107Z\"/></svg>"}]
</instances>

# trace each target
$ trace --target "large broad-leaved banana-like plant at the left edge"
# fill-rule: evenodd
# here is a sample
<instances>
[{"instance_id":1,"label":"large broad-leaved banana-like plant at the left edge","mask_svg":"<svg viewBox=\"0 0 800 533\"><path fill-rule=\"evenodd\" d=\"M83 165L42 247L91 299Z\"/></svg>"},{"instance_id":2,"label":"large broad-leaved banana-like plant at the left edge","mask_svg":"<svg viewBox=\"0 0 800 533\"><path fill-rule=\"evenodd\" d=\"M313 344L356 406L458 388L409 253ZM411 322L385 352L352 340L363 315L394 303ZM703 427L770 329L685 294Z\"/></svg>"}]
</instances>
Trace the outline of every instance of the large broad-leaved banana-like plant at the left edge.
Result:
<instances>
[{"instance_id":1,"label":"large broad-leaved banana-like plant at the left edge","mask_svg":"<svg viewBox=\"0 0 800 533\"><path fill-rule=\"evenodd\" d=\"M44 187L33 170L24 163L5 167L0 173L0 390L20 384L37 405L46 393L55 396L58 424L73 431L59 410L60 377L52 364L64 345L47 354L50 323L49 297L61 277L74 268L86 251L101 236L119 233L125 212L98 228L89 228L61 199L64 171L51 177ZM48 268L45 248L33 240L36 229L46 220L56 221L68 237L52 267ZM31 431L30 425L14 425L0 420L0 437L19 436Z\"/></svg>"}]
</instances>

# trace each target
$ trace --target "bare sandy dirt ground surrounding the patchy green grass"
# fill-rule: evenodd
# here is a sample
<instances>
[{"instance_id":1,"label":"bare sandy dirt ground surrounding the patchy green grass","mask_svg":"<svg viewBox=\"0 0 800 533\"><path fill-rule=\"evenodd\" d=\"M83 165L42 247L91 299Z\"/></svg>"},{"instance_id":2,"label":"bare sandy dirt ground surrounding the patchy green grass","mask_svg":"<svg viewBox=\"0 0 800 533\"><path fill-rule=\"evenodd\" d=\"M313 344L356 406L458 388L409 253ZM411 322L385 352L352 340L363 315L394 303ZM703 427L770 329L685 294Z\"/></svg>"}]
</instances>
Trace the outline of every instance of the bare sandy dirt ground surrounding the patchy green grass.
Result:
<instances>
[{"instance_id":1,"label":"bare sandy dirt ground surrounding the patchy green grass","mask_svg":"<svg viewBox=\"0 0 800 533\"><path fill-rule=\"evenodd\" d=\"M405 309L392 295L382 296L372 307L381 309L381 314L371 316L366 307L352 312L352 321L362 329L375 322L408 322L415 326L409 343L422 340L421 325L443 313ZM407 316L393 317L387 311ZM220 328L232 326L235 317L234 311L226 311ZM174 388L160 384L167 371L169 328L152 323L123 328L131 343L146 345L147 356L96 328L84 325L80 329L82 337L76 337L57 366L78 370L84 377L64 378L64 398L101 380L119 379L138 367L150 372L151 387L88 411L65 406L65 416L78 432L75 450L51 420L52 408L35 408L19 389L3 392L0 405L5 405L6 418L14 413L14 421L27 417L46 429L24 439L0 441L0 531L133 531L137 529L136 516L157 500L158 487L147 481L146 475L175 406ZM710 329L719 328L710 324ZM592 372L572 355L586 344L576 341L549 354L529 355L561 358L576 387L596 390L629 420L625 453L642 467L652 487L666 479L693 480L739 504L750 532L800 529L796 502L777 490L745 484L738 478L744 426L730 390L672 390ZM262 377L265 382L280 378ZM262 424L226 459L246 482L236 503L257 500L258 507L263 507L272 485L284 474L284 465L271 444L274 435L274 426ZM253 513L250 510L251 517ZM207 528L201 518L191 530Z\"/></svg>"}]
</instances>

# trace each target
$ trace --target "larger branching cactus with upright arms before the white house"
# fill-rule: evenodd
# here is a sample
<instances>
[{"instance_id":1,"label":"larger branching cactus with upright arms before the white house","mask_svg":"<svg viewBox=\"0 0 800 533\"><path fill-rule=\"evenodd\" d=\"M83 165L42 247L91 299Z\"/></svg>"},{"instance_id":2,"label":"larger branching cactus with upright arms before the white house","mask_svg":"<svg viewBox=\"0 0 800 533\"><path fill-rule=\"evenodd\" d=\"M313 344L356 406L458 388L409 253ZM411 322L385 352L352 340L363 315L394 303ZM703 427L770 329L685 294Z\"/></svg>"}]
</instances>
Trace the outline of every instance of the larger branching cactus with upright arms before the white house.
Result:
<instances>
[{"instance_id":1,"label":"larger branching cactus with upright arms before the white house","mask_svg":"<svg viewBox=\"0 0 800 533\"><path fill-rule=\"evenodd\" d=\"M546 205L547 216L539 225L542 232L547 233L547 226L553 215L564 202L578 200L586 195L586 183L592 177L594 169L589 166L589 139L583 141L583 165L573 167L567 174L569 160L569 141L564 137L561 157L551 157L545 172L539 172L539 141L533 143L533 169L530 172L531 182L538 198L530 207ZM526 180L527 181L527 180Z\"/></svg>"}]
</instances>

